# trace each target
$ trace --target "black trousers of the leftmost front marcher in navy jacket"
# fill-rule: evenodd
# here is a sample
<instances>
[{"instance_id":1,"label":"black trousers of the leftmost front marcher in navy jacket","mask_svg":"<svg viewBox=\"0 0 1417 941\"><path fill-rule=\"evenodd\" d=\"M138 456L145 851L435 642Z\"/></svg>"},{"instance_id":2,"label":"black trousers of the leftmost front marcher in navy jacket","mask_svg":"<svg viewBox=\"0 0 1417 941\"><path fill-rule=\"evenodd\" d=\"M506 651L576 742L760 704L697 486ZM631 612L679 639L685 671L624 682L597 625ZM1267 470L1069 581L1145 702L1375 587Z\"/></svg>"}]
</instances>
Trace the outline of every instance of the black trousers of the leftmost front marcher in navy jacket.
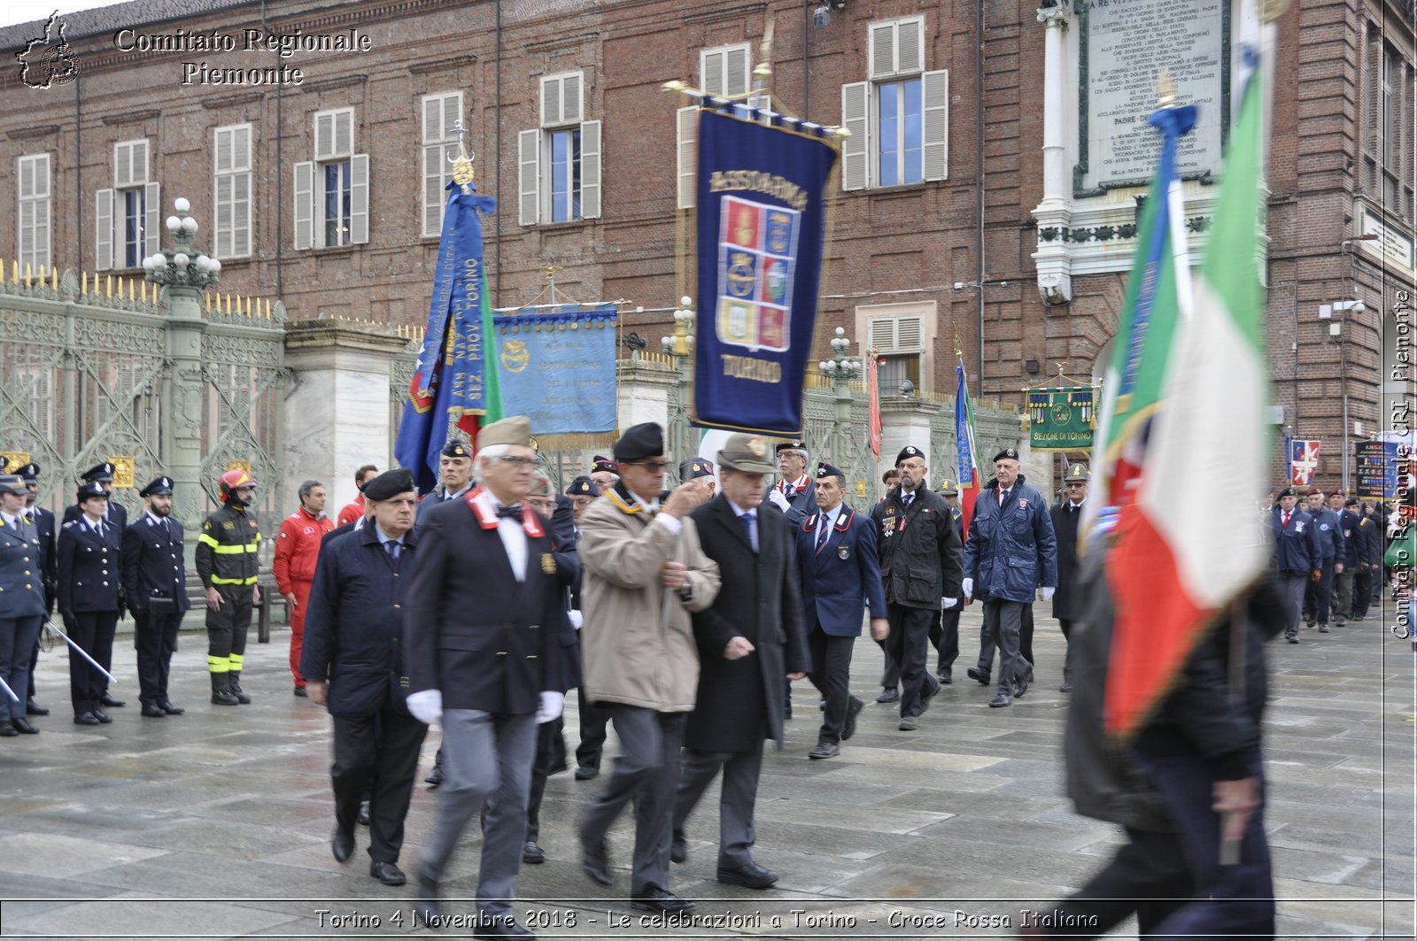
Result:
<instances>
[{"instance_id":1,"label":"black trousers of the leftmost front marcher in navy jacket","mask_svg":"<svg viewBox=\"0 0 1417 941\"><path fill-rule=\"evenodd\" d=\"M334 823L351 833L367 792L368 855L380 863L397 863L418 772L418 751L428 726L393 709L381 709L373 716L333 719L330 784L334 789Z\"/></svg>"}]
</instances>

